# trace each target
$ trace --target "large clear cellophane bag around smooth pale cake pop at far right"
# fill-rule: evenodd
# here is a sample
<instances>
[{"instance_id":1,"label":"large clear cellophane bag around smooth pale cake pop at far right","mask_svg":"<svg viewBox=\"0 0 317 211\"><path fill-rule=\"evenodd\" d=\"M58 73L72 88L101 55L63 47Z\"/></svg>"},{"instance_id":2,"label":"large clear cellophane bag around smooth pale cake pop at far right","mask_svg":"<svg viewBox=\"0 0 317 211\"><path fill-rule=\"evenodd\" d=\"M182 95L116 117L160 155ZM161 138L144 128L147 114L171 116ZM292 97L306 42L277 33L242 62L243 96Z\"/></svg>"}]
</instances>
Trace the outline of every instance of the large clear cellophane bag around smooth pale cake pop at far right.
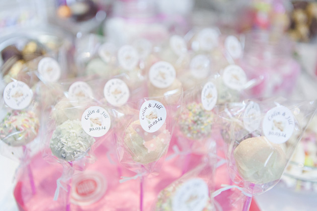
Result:
<instances>
[{"instance_id":1,"label":"large clear cellophane bag around smooth pale cake pop at far right","mask_svg":"<svg viewBox=\"0 0 317 211\"><path fill-rule=\"evenodd\" d=\"M315 101L284 98L227 104L219 127L232 181L249 194L276 185L315 110Z\"/></svg>"}]
</instances>

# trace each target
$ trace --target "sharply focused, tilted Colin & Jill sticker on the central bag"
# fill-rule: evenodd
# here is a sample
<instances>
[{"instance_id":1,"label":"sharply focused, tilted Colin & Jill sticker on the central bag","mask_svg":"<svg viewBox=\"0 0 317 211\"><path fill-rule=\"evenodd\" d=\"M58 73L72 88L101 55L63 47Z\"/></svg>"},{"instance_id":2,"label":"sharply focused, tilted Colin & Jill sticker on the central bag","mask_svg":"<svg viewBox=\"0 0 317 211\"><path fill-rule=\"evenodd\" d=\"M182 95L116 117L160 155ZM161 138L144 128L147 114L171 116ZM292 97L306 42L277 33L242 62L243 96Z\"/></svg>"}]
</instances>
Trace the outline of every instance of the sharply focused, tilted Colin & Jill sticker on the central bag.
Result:
<instances>
[{"instance_id":1,"label":"sharply focused, tilted Colin & Jill sticker on the central bag","mask_svg":"<svg viewBox=\"0 0 317 211\"><path fill-rule=\"evenodd\" d=\"M163 126L166 116L166 109L161 102L147 100L142 104L139 113L141 127L148 133L154 133Z\"/></svg>"}]
</instances>

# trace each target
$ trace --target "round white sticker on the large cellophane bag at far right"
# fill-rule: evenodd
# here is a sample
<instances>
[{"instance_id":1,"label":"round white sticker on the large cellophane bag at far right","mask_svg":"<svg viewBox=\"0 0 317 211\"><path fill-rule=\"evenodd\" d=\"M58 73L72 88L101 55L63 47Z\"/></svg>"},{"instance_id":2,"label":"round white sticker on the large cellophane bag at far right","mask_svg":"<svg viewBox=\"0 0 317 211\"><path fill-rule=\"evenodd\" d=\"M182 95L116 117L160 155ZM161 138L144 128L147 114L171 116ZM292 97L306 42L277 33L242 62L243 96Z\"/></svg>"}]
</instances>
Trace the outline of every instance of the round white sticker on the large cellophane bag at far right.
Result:
<instances>
[{"instance_id":1,"label":"round white sticker on the large cellophane bag at far right","mask_svg":"<svg viewBox=\"0 0 317 211\"><path fill-rule=\"evenodd\" d=\"M278 106L265 115L262 128L265 137L272 143L282 144L293 134L295 127L292 112L283 106Z\"/></svg>"}]
</instances>

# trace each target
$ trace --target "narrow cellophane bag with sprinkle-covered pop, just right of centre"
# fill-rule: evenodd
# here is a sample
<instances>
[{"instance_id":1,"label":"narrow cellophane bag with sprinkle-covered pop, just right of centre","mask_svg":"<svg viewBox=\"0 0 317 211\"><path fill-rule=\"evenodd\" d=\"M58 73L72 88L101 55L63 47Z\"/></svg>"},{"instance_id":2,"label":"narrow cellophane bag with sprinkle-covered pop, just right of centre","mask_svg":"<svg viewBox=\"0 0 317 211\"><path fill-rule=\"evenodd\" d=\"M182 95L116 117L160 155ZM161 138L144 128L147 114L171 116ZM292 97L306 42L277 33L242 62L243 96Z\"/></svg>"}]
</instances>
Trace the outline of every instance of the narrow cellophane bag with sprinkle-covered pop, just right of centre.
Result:
<instances>
[{"instance_id":1,"label":"narrow cellophane bag with sprinkle-covered pop, just right of centre","mask_svg":"<svg viewBox=\"0 0 317 211\"><path fill-rule=\"evenodd\" d=\"M212 139L217 103L214 79L205 80L184 92L182 111L177 124L177 143L183 152L206 154Z\"/></svg>"}]
</instances>

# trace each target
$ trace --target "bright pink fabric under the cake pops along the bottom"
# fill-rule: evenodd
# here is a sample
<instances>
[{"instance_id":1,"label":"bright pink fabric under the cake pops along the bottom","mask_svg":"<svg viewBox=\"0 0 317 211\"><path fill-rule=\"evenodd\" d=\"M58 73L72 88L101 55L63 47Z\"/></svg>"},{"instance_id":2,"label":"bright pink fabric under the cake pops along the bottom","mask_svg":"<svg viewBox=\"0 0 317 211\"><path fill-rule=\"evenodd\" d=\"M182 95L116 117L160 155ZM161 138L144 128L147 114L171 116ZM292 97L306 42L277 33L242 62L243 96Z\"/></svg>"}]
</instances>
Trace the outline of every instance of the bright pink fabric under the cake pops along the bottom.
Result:
<instances>
[{"instance_id":1,"label":"bright pink fabric under the cake pops along the bottom","mask_svg":"<svg viewBox=\"0 0 317 211\"><path fill-rule=\"evenodd\" d=\"M221 137L215 133L217 141L221 143ZM109 141L109 140L108 140ZM175 143L172 140L171 143ZM104 175L107 180L108 187L104 196L97 202L86 205L78 206L70 204L70 210L72 211L129 211L139 209L140 203L140 178L131 179L129 181L119 183L120 175L132 177L135 175L134 172L127 170L121 165L111 164L107 157L107 145L104 142L100 145L95 154L98 158L96 163L91 164L87 167L86 171L98 171ZM108 145L107 145L108 146ZM168 155L173 153L169 151ZM218 152L219 156L223 156L223 151ZM113 162L118 164L116 155L112 155L111 159ZM187 169L191 170L201 163L202 156L190 155L190 159L187 163ZM159 176L156 177L144 177L143 180L143 210L152 210L157 195L161 190L177 180L182 175L182 169L184 165L184 156L178 156L170 161L166 161L160 172ZM32 194L30 183L27 178L27 172L22 174L17 182L14 195L20 211L55 211L65 210L66 200L64 190L60 190L60 196L57 201L53 201L53 196L56 188L56 179L60 177L62 167L60 165L50 165L45 162L41 154L36 155L30 166L33 171L35 178L35 187L37 193ZM226 165L220 166L216 171L214 178L215 189L221 188L221 184L230 184L230 178ZM242 210L243 203L247 197L244 196L239 190L230 189L222 192L216 196L216 201L222 206L223 210ZM64 199L64 200L63 200Z\"/></svg>"}]
</instances>

